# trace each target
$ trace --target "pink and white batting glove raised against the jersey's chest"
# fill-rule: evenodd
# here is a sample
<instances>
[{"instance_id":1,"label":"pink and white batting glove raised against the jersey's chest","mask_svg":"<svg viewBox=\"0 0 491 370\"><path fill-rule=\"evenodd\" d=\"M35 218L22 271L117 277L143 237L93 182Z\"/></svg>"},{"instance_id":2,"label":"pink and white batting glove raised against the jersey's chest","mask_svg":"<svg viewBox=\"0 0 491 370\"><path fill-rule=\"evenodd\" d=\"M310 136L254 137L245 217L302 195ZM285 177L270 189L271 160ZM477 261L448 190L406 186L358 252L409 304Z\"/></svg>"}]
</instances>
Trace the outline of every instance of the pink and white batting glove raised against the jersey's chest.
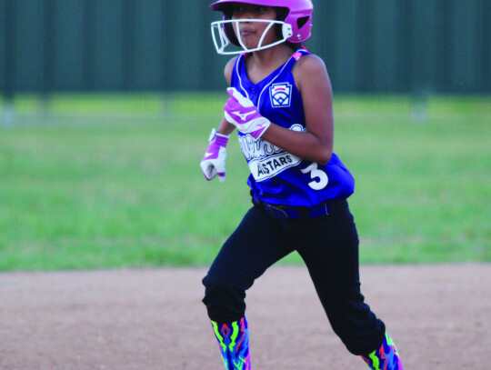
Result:
<instances>
[{"instance_id":1,"label":"pink and white batting glove raised against the jersey's chest","mask_svg":"<svg viewBox=\"0 0 491 370\"><path fill-rule=\"evenodd\" d=\"M230 95L225 103L225 119L244 134L259 139L271 122L259 113L254 103L240 94L235 87L226 89Z\"/></svg>"}]
</instances>

